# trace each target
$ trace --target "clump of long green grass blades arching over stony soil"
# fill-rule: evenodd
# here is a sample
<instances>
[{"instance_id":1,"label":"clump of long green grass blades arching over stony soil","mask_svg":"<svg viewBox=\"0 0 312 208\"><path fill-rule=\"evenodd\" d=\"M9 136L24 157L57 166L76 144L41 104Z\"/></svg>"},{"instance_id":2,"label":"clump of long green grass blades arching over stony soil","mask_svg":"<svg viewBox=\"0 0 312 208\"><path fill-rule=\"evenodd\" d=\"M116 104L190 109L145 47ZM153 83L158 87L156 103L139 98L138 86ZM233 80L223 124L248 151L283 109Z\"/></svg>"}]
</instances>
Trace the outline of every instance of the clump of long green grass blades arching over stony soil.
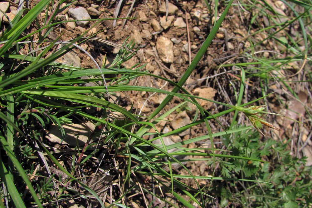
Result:
<instances>
[{"instance_id":1,"label":"clump of long green grass blades arching over stony soil","mask_svg":"<svg viewBox=\"0 0 312 208\"><path fill-rule=\"evenodd\" d=\"M227 180L231 181L231 183L237 180L240 182L247 181L252 184L261 182L263 186L273 186L271 184L272 181L265 176L244 178L244 175L251 176L252 173L256 173L255 171L252 173L247 172L249 165L257 164L258 169L255 168L255 170L260 170L259 164L268 166L268 163L263 161L261 157L262 155L267 155L267 152L261 152L257 156L250 154L251 151L256 151L262 147L253 148L249 146L251 144L250 135L256 135L255 131L247 131L252 126L234 125L237 113L241 111L248 116L256 130L260 133L262 133L260 129L263 124L277 129L276 126L265 121L264 115L268 112L264 111L264 106L244 107L267 97L269 93L263 90L263 96L260 98L241 104L244 92L243 85L246 78L245 70L242 69L242 87L239 91L237 106L211 101L227 106L229 109L210 115L210 112L203 109L196 100L203 98L191 95L182 87L206 53L233 1L228 2L221 17L216 21L215 26L207 36L193 62L178 83L142 71L144 65L137 64L131 67L131 69L122 68L121 64L134 56L132 51L134 48L133 42L124 43L114 62L107 68L98 66L95 69L85 69L55 62L57 58L66 52L78 47L79 43L76 43L80 39L78 37L71 40L71 42L66 42L65 46L53 53L48 52L55 47L58 40L43 46L43 44L46 44L46 37L53 30L53 27L63 23L52 22L53 18L60 11L57 8L63 2L65 1L60 1L56 5L56 9L51 12L51 16L46 15L45 25L40 26L41 28L37 28L36 31L26 34L24 37L21 36L43 9L46 8L48 14L49 9L51 9L48 6L49 0L40 1L24 17L22 17L22 13L17 15L12 20L12 25L1 36L2 47L0 48L0 56L2 59L0 67L2 74L0 77L0 102L2 107L0 111L0 142L2 149L0 176L2 182L1 193L3 193L4 199L4 202L0 201L2 207L4 207L4 204L8 207L13 205L16 207L35 205L43 207L48 203L51 206L58 206L61 203L67 203L72 198L75 199L77 204L88 203L90 206L125 207L129 202L127 200L133 193L139 193L140 199L143 199L143 202L141 201L142 204L144 203L147 207L153 206L153 202L156 199L174 207L179 205L193 207L193 203L198 206L205 206L212 199L212 196L206 194L206 191L209 191L209 187L202 187L197 182L199 179L213 182ZM285 25L282 26L284 27ZM32 53L28 55L19 54L21 48L24 48L25 44L29 43L28 41L33 41L32 37L36 33L39 34L39 37L43 37L37 42L38 47L36 46L41 48L41 50L35 50L35 47L31 44ZM273 37L273 35L270 37ZM246 57L249 56L248 52L246 51L245 53ZM307 58L308 56L304 57ZM283 60L285 63L287 62L286 58ZM279 59L279 62L283 60ZM257 69L261 73L266 72L265 75L267 75L266 69L272 71L280 67L274 66L272 68L272 63L275 62L272 60L266 62L260 60L252 64L260 65ZM242 68L251 65L251 63L244 64L241 65ZM223 67L226 66L223 65ZM64 72L62 69L69 71ZM246 72L248 74L247 77L258 76L257 73L252 73L249 69ZM105 79L105 75L114 75L115 78ZM80 77L84 76L95 76L96 78L81 80ZM158 88L126 85L130 80L139 76L153 76L169 82L175 87L173 91L168 92ZM84 86L87 82L98 82L103 81L103 79L107 83L105 87ZM127 111L116 103L110 102L109 95L119 91L164 93L167 94L167 97L149 115L149 118L144 119L132 113L132 111ZM163 111L173 97L178 97L185 102L174 106L160 115L160 112ZM197 119L195 117L191 124L165 134L158 132L155 125L159 121L166 119L175 110L183 108L186 103L196 105L202 118ZM87 113L85 108L90 106L99 108L102 115L96 116ZM236 111L236 113L234 114L230 130L217 133L211 132L209 120L217 119L231 111ZM124 119L120 120L113 117L112 115L115 113L123 115ZM91 121L95 124L95 130L89 132L89 139L84 147L77 145L75 148L55 149L45 143L44 134L49 125L55 124L58 126L59 131L65 137L63 124L73 123L74 121ZM207 135L191 138L169 146L164 143L163 138L165 136L178 134L202 123L207 127ZM150 129L154 129L155 133L149 133ZM247 137L244 136L244 133L250 135ZM151 134L153 134L154 138L146 140L145 138ZM236 135L239 141L235 141L231 138L231 135ZM250 148L250 150L244 152L244 150L239 149L239 152L242 154L237 155L217 154L213 143L214 138L220 136L225 138L224 144L228 148L243 146L247 149ZM152 141L156 139L160 139L161 145L153 144ZM212 144L212 148L208 149L211 153L202 152L200 149L183 147L185 144L206 140L210 140ZM257 140L259 140L259 137L257 137ZM268 144L271 143L266 143L265 146ZM173 148L176 148L175 151L169 151ZM232 150L232 152L234 151ZM222 162L220 164L222 164L223 176L194 175L185 166L184 161L176 156L204 156L207 160L212 159L214 168L217 164L217 158L221 158ZM197 160L190 159L189 161ZM244 167L239 169L240 165L237 161L244 161ZM298 161L294 162L298 163ZM175 163L182 166L188 175L175 174L173 170L173 164ZM233 166L237 167L235 171ZM237 179L233 174L241 174L242 177ZM144 175L145 179L149 180L149 184L144 184L140 181L139 175ZM196 188L184 183L181 178L193 180ZM34 184L36 185L34 186ZM234 186L234 184L230 184L230 186ZM23 187L23 189L18 189L17 187ZM214 185L210 186L210 190L213 191L217 189L216 187ZM24 192L24 189L27 191ZM227 190L225 191L227 192ZM26 202L23 199L29 197L29 193L32 200ZM179 205L168 200L164 193L173 196L179 202ZM148 201L147 195L151 196L153 200ZM223 196L225 197L225 195ZM231 195L225 198L231 201L234 197ZM224 198L222 200L224 201ZM246 199L246 201L249 202L249 199ZM226 202L224 201L224 205L226 205ZM244 203L241 204L244 205Z\"/></svg>"}]
</instances>

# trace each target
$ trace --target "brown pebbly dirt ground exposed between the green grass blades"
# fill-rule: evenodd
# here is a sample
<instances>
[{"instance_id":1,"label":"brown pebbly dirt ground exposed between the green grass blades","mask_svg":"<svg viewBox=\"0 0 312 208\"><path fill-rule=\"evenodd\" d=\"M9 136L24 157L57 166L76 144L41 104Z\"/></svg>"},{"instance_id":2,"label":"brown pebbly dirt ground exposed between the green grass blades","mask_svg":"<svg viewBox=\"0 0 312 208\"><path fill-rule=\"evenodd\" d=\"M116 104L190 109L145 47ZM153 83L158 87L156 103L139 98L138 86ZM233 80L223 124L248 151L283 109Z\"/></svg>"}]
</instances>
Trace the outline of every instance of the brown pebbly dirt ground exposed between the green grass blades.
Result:
<instances>
[{"instance_id":1,"label":"brown pebbly dirt ground exposed between the green grass blades","mask_svg":"<svg viewBox=\"0 0 312 208\"><path fill-rule=\"evenodd\" d=\"M134 3L134 4L133 4ZM274 2L271 2L274 6ZM94 5L91 5L94 4ZM100 32L97 34L97 37L104 38L106 40L118 43L122 45L126 38L130 37L128 42L131 39L134 39L136 42L135 48L137 48L138 54L133 59L125 62L124 67L132 67L138 62L142 64L148 63L145 67L145 70L149 72L166 77L171 79L174 82L178 82L179 78L182 77L183 73L188 68L190 61L193 60L199 48L201 47L203 41L209 34L214 18L212 17L211 11L208 10L206 2L203 0L198 1L170 1L168 5L169 11L166 14L166 4L165 1L130 1L125 0L122 2L120 8L116 8L118 2L116 1L78 1L71 5L70 8L84 7L84 8L95 8L100 12L99 16L92 16L91 18L113 18L116 16L119 18L124 17L135 17L135 19L119 19L114 20L105 20L98 23L93 29L90 30L88 36ZM133 5L132 5L133 4ZM132 7L132 9L131 9ZM214 8L214 1L211 2L211 8ZM219 16L224 10L225 6L219 6L218 12ZM117 11L117 13L116 13ZM129 15L128 15L129 13ZM44 17L44 12L41 13L41 17ZM263 18L264 25L251 24L252 14L250 12L244 11L240 8L239 5L234 4L225 18L225 21L222 23L222 26L217 33L217 36L214 38L214 41L207 50L207 53L204 58L199 62L197 68L191 78L187 81L184 86L189 92L193 94L200 95L208 99L214 99L219 102L225 102L229 104L236 104L235 91L238 92L240 81L237 80L237 75L240 75L239 70L232 70L230 67L219 66L223 63L238 63L246 62L246 58L241 56L241 52L250 47L248 41L248 34L257 31L265 26L266 19ZM60 19L67 20L71 18L68 10L64 11L59 15ZM162 22L160 24L160 22ZM90 22L84 27L73 25L71 23L63 23L57 27L58 29L51 32L49 38L52 40L61 35L62 40L70 40L72 38L78 37L82 32L85 32L87 29L92 27L96 21ZM250 27L250 25L252 25ZM165 37L169 39L173 44L173 58L168 62L164 62L160 56L159 50L157 49L158 39L160 37ZM264 40L266 35L259 33L252 38L255 38L258 41ZM110 62L112 58L115 57L116 50L115 48L99 43L96 41L89 42L88 44L83 45L88 52L95 58L98 63L103 63L105 57ZM190 48L190 50L189 50ZM278 51L274 44L269 41L265 41L261 46L255 47L255 50L264 50L268 51ZM189 54L190 51L190 54ZM90 61L90 58L84 53L76 50L78 57L80 58L81 67L93 68L94 63ZM107 66L109 63L107 63ZM227 73L225 73L227 71ZM246 89L246 96L243 102L249 102L253 99L261 97L261 87L260 83L253 80L254 78L248 80L249 88ZM157 87L165 90L172 90L173 86L165 85L163 80L157 80L153 77L140 77L135 79L130 83L130 85L140 85L148 87ZM283 89L279 89L279 85L276 83L270 84L272 91L277 91L280 95L283 94L285 101L289 105L296 105L293 99L285 96ZM202 90L203 89L203 90ZM299 89L299 88L298 88ZM129 108L134 102L134 111L139 111L142 109L142 116L149 116L163 99L159 95L151 97L147 103L144 104L145 100L150 96L149 93L145 92L122 92L120 97L122 97L121 106ZM300 94L302 102L307 102L308 94L307 92L302 92ZM276 106L276 99L272 96L269 98L271 103L269 104L270 109L276 113L280 113L280 106ZM171 102L167 110L177 103L181 102L178 99L174 99ZM144 105L144 106L143 106ZM218 106L216 104L207 104L207 109L214 114L225 110L224 106ZM304 109L303 111L304 113ZM285 112L285 111L284 111ZM189 114L192 114L192 111L189 111ZM281 112L283 113L283 112ZM291 113L291 112L287 112ZM284 114L284 113L283 113ZM192 119L192 115L185 115ZM220 118L220 121L223 126L229 126L231 122L231 116L227 115ZM296 117L292 117L298 119ZM239 122L241 124L248 124L248 121L244 118L240 118ZM286 122L286 123L285 123ZM283 128L284 130L275 133L269 133L274 136L276 139L282 139L285 137L293 137L294 134L299 134L294 132L292 123L289 121L276 120L273 122L276 126L288 126L288 128ZM173 126L168 122L161 124L161 130L165 128L172 129ZM217 122L211 123L211 128L213 132L222 131L222 126ZM268 131L269 132L269 131ZM308 135L309 129L306 128L305 134ZM188 140L196 136L201 136L207 134L207 130L204 126L196 126L190 130L190 132L183 136L177 136L173 138L175 141ZM210 141L201 144L190 144L189 148L192 147L211 147ZM221 146L218 146L221 148ZM187 167L192 170L194 175L209 176L211 175L211 168L206 166L204 161L197 161L197 163L188 163ZM188 175L187 172L183 170L181 174ZM109 181L110 179L107 179ZM145 178L144 183L148 183L148 178ZM188 185L194 186L196 184L194 181L183 181ZM207 181L198 181L200 185L207 185ZM135 197L134 197L135 199ZM139 198L132 203L139 205Z\"/></svg>"}]
</instances>

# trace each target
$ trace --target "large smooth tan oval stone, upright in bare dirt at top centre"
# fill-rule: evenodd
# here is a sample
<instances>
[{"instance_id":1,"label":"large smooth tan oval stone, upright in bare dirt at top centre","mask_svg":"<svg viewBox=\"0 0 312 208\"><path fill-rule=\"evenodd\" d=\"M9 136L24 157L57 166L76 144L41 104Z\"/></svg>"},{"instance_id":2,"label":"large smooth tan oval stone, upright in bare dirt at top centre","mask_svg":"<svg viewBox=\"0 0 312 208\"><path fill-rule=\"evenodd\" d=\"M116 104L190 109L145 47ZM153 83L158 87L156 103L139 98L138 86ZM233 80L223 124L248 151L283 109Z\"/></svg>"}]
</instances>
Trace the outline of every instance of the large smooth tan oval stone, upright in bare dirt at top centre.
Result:
<instances>
[{"instance_id":1,"label":"large smooth tan oval stone, upright in bare dirt at top centre","mask_svg":"<svg viewBox=\"0 0 312 208\"><path fill-rule=\"evenodd\" d=\"M159 58L165 63L173 63L173 43L166 37L158 37L156 49Z\"/></svg>"}]
</instances>

